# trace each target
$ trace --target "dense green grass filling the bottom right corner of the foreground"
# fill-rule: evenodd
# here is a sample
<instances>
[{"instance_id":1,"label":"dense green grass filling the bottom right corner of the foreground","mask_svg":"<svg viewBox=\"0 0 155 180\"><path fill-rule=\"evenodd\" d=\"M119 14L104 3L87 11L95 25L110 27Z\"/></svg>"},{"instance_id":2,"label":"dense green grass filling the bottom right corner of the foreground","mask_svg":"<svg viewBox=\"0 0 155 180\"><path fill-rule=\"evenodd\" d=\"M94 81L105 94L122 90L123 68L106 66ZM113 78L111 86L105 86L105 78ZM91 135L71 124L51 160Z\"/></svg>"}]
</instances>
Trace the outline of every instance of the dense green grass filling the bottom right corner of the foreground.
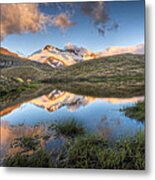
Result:
<instances>
[{"instance_id":1,"label":"dense green grass filling the bottom right corner of the foreground","mask_svg":"<svg viewBox=\"0 0 155 180\"><path fill-rule=\"evenodd\" d=\"M71 144L64 167L142 170L144 149L144 133L115 143L107 143L97 136L79 137Z\"/></svg>"}]
</instances>

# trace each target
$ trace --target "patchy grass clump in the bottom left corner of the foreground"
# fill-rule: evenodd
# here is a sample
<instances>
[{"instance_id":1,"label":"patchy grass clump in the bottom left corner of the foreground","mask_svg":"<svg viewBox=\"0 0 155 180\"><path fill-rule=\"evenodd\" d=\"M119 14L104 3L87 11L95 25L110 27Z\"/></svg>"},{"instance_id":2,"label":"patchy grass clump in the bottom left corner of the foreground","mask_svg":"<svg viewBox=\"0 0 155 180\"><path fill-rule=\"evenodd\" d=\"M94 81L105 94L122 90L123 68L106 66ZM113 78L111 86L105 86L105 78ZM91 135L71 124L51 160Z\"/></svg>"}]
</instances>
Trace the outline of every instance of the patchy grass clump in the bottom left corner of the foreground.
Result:
<instances>
[{"instance_id":1,"label":"patchy grass clump in the bottom left corner of the foreground","mask_svg":"<svg viewBox=\"0 0 155 180\"><path fill-rule=\"evenodd\" d=\"M20 148L17 153L8 155L4 159L7 167L52 167L50 153L41 146L38 136L20 137L14 139L12 148Z\"/></svg>"}]
</instances>

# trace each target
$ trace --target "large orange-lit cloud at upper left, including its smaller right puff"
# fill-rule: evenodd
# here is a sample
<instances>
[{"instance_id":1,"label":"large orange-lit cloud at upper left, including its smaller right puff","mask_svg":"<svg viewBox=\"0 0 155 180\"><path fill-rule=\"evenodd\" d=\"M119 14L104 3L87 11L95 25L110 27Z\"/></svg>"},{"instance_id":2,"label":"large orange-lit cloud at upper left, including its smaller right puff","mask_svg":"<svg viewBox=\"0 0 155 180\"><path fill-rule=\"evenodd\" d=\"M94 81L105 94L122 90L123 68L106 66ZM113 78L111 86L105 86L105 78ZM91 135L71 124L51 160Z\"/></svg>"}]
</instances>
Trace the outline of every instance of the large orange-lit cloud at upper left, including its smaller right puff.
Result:
<instances>
[{"instance_id":1,"label":"large orange-lit cloud at upper left, including its smaller right puff","mask_svg":"<svg viewBox=\"0 0 155 180\"><path fill-rule=\"evenodd\" d=\"M65 13L46 15L38 8L38 4L1 4L1 36L38 32L47 26L66 29L74 25Z\"/></svg>"}]
</instances>

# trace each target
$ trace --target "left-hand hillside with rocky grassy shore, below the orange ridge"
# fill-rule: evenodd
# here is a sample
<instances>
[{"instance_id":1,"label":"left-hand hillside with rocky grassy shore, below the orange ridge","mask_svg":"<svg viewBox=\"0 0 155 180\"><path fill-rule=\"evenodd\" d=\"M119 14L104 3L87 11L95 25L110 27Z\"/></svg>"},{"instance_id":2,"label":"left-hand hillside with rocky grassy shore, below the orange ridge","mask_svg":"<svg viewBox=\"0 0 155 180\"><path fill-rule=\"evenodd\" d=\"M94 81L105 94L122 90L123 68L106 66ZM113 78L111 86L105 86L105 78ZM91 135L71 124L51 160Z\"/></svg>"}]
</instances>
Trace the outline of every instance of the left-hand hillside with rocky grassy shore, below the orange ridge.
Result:
<instances>
[{"instance_id":1,"label":"left-hand hillside with rocky grassy shore, below the orange ridge","mask_svg":"<svg viewBox=\"0 0 155 180\"><path fill-rule=\"evenodd\" d=\"M22 92L35 87L34 83L48 77L52 68L46 64L0 54L0 93L1 97L11 92Z\"/></svg>"}]
</instances>

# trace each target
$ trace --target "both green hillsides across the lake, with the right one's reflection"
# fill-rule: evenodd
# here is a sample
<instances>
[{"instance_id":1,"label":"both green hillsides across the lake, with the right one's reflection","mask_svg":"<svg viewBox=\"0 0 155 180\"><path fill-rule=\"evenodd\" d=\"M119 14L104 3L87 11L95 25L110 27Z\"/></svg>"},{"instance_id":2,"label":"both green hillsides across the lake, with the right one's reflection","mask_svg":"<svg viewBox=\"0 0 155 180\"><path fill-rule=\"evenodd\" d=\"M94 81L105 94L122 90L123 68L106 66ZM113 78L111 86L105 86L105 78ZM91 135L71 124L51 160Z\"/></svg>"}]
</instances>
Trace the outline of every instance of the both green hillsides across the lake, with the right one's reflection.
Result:
<instances>
[{"instance_id":1,"label":"both green hillsides across the lake, with the right one's reflection","mask_svg":"<svg viewBox=\"0 0 155 180\"><path fill-rule=\"evenodd\" d=\"M54 69L47 64L1 55L1 92L8 94L31 83L53 89L107 97L144 95L144 55L123 54ZM20 88L22 91L23 88Z\"/></svg>"}]
</instances>

